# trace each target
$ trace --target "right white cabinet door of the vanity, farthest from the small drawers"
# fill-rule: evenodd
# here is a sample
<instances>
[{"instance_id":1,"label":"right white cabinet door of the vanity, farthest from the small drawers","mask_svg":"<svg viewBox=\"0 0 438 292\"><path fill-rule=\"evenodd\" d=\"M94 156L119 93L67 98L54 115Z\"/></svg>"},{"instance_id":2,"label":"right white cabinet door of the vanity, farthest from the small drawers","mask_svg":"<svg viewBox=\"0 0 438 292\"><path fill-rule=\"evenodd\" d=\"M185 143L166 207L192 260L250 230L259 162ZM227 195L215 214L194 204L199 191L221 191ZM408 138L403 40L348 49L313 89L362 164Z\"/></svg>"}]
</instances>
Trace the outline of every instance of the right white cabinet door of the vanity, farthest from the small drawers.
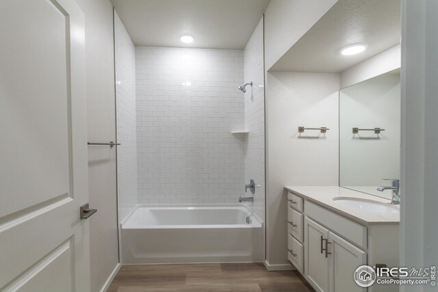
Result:
<instances>
[{"instance_id":1,"label":"right white cabinet door of the vanity, farthest from the small drawers","mask_svg":"<svg viewBox=\"0 0 438 292\"><path fill-rule=\"evenodd\" d=\"M331 292L365 292L353 275L357 267L367 264L367 253L345 239L329 233L329 282Z\"/></svg>"}]
</instances>

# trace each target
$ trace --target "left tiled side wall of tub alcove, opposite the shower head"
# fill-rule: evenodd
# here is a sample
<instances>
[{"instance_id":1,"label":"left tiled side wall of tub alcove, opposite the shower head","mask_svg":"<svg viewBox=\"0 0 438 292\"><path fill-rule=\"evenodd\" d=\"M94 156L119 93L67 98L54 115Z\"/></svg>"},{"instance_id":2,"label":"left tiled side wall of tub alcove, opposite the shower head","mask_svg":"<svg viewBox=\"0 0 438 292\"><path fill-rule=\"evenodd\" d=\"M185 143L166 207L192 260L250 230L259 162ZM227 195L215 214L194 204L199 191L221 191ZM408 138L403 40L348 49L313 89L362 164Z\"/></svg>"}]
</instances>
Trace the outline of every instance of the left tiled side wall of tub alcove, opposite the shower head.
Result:
<instances>
[{"instance_id":1,"label":"left tiled side wall of tub alcove, opposite the shower head","mask_svg":"<svg viewBox=\"0 0 438 292\"><path fill-rule=\"evenodd\" d=\"M122 222L138 203L136 48L114 12L116 54L117 196L118 220Z\"/></svg>"}]
</instances>

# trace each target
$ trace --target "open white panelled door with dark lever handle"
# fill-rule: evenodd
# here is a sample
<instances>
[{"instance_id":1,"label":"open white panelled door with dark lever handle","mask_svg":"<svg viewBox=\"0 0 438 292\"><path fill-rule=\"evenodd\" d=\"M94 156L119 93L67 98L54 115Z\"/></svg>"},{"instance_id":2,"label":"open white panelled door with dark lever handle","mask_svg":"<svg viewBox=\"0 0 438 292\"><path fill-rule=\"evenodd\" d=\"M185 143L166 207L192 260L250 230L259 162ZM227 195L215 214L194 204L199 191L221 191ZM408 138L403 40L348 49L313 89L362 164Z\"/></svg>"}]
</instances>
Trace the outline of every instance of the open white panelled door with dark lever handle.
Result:
<instances>
[{"instance_id":1,"label":"open white panelled door with dark lever handle","mask_svg":"<svg viewBox=\"0 0 438 292\"><path fill-rule=\"evenodd\" d=\"M90 291L83 23L0 1L0 291Z\"/></svg>"}]
</instances>

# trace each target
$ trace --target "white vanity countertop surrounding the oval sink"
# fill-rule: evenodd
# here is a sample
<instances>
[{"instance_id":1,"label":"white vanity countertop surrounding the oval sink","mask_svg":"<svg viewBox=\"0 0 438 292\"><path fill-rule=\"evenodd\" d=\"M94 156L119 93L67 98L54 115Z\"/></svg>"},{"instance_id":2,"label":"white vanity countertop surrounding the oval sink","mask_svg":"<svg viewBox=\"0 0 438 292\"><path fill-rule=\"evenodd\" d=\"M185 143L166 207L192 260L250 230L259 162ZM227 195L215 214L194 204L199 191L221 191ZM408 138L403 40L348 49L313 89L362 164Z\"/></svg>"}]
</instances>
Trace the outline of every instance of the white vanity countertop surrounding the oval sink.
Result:
<instances>
[{"instance_id":1,"label":"white vanity countertop surrounding the oval sink","mask_svg":"<svg viewBox=\"0 0 438 292\"><path fill-rule=\"evenodd\" d=\"M372 225L372 224L400 224L400 212L398 213L378 213L373 211L364 211L355 207L347 207L339 202L333 200L337 197L349 197L359 198L365 200L373 200L376 202L383 202L391 207L400 210L400 207L391 205L391 200L385 198L378 198L376 196L363 194L360 191L353 191L352 189L346 189L344 187L337 186L321 186L321 187L305 187L305 186L292 186L285 187L287 191L290 191L306 200L314 202L326 209L329 209L335 213L348 217L359 224Z\"/></svg>"}]
</instances>

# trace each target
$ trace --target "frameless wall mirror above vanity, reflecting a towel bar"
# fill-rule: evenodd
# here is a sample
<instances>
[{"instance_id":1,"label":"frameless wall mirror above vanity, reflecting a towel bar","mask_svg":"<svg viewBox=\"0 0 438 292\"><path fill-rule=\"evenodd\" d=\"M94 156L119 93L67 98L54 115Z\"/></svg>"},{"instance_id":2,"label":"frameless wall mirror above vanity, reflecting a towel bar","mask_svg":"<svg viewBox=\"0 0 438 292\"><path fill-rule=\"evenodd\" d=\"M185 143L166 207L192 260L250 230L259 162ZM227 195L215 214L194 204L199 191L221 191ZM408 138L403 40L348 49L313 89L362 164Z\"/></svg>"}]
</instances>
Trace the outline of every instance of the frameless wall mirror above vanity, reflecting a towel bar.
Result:
<instances>
[{"instance_id":1,"label":"frameless wall mirror above vanity, reflecting a towel bar","mask_svg":"<svg viewBox=\"0 0 438 292\"><path fill-rule=\"evenodd\" d=\"M400 178L400 69L339 91L339 185L391 198Z\"/></svg>"}]
</instances>

